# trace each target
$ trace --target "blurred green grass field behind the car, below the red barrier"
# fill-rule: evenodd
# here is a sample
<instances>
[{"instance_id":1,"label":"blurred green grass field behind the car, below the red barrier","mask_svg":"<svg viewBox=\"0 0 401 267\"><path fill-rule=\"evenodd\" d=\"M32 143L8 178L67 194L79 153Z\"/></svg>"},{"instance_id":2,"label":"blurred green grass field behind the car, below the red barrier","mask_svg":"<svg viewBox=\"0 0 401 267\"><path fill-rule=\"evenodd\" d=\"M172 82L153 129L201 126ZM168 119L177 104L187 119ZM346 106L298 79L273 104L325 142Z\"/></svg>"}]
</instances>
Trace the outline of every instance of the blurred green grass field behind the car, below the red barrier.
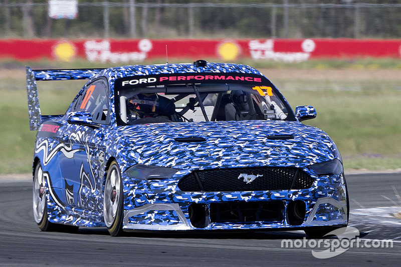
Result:
<instances>
[{"instance_id":1,"label":"blurred green grass field behind the car, below the red barrier","mask_svg":"<svg viewBox=\"0 0 401 267\"><path fill-rule=\"evenodd\" d=\"M34 68L109 66L84 61L62 65L48 61L26 64ZM400 64L401 61L395 59L320 60L291 65L264 62L262 67L266 69L262 71L273 75L269 77L294 109L296 105L305 104L317 109L316 119L304 123L322 128L332 137L341 151L346 169L383 170L401 166L401 116L398 115L401 113L401 77L394 77L394 71L391 72ZM371 77L369 73L376 73L377 66L377 71L381 71L379 78ZM5 70L4 67L16 69ZM25 74L21 68L19 62L0 62L0 173L31 171L36 132L29 130ZM344 72L340 77L331 75L333 68ZM364 73L361 69L370 72L361 76L359 74ZM293 75L294 72L300 74ZM354 72L359 76L353 75ZM350 78L343 78L341 75L344 73L350 73ZM64 113L83 83L39 82L43 114Z\"/></svg>"}]
</instances>

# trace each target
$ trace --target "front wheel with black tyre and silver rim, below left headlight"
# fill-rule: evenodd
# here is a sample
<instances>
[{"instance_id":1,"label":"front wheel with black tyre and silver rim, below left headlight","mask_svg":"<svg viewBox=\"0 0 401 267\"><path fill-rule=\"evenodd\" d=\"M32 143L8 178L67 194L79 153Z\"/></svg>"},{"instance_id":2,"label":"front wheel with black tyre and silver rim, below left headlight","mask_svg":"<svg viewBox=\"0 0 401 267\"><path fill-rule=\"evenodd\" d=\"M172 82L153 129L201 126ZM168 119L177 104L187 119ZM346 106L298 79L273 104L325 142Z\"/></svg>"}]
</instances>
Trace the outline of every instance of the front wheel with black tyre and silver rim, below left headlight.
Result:
<instances>
[{"instance_id":1,"label":"front wheel with black tyre and silver rim, below left headlight","mask_svg":"<svg viewBox=\"0 0 401 267\"><path fill-rule=\"evenodd\" d=\"M103 192L103 218L112 236L123 235L123 188L121 171L116 161L112 161L107 171Z\"/></svg>"}]
</instances>

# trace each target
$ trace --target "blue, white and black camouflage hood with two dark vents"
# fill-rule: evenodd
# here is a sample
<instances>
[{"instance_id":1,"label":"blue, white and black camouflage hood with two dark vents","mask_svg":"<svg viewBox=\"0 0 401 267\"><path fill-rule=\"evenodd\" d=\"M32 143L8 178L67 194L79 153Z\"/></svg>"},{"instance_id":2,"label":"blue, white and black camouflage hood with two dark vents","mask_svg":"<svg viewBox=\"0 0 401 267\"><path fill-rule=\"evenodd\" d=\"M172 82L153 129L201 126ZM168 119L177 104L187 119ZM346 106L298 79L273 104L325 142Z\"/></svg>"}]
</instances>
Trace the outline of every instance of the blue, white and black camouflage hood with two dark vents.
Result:
<instances>
[{"instance_id":1,"label":"blue, white and black camouflage hood with two dark vents","mask_svg":"<svg viewBox=\"0 0 401 267\"><path fill-rule=\"evenodd\" d=\"M118 132L126 167L304 167L339 155L324 131L297 121L155 123L123 126Z\"/></svg>"}]
</instances>

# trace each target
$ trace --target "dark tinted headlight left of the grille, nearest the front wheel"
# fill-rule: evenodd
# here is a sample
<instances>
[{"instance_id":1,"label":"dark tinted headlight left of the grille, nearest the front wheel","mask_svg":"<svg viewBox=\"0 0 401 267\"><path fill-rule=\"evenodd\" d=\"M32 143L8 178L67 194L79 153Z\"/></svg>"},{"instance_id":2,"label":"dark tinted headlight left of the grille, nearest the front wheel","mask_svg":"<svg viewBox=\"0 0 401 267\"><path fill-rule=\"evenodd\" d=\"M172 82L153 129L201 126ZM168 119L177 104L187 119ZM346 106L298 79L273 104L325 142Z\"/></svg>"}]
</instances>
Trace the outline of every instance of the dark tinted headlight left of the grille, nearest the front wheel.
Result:
<instances>
[{"instance_id":1,"label":"dark tinted headlight left of the grille, nearest the front wheel","mask_svg":"<svg viewBox=\"0 0 401 267\"><path fill-rule=\"evenodd\" d=\"M128 177L141 180L167 179L179 169L137 164L129 167L125 174Z\"/></svg>"}]
</instances>

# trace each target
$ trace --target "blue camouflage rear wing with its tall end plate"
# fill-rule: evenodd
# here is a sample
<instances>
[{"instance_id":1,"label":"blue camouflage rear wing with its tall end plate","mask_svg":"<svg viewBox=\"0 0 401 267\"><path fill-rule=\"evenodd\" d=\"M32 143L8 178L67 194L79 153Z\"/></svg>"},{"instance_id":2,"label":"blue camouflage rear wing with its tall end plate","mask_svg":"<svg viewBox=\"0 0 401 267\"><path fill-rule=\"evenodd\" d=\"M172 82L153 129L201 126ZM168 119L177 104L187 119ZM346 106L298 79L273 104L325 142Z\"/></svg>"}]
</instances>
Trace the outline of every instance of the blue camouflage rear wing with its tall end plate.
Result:
<instances>
[{"instance_id":1,"label":"blue camouflage rear wing with its tall end plate","mask_svg":"<svg viewBox=\"0 0 401 267\"><path fill-rule=\"evenodd\" d=\"M90 79L104 68L76 68L76 69L32 69L27 70L28 113L31 130L38 130L42 123L41 108L39 106L37 80L68 80Z\"/></svg>"}]
</instances>

